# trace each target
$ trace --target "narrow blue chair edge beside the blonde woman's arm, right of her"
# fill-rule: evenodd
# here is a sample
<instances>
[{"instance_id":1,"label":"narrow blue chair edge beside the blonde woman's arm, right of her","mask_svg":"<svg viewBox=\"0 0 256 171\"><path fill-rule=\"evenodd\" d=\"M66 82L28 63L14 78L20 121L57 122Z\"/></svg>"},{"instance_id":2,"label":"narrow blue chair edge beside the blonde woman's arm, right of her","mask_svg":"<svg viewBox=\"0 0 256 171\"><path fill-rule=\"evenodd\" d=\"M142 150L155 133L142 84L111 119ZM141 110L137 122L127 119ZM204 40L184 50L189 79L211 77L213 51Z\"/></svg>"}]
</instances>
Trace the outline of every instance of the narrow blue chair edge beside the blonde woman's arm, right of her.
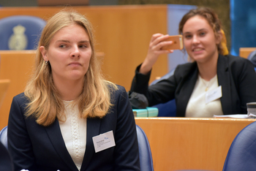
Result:
<instances>
[{"instance_id":1,"label":"narrow blue chair edge beside the blonde woman's arm, right of her","mask_svg":"<svg viewBox=\"0 0 256 171\"><path fill-rule=\"evenodd\" d=\"M151 148L146 137L145 132L140 126L136 125L139 153L140 153L140 170L141 171L153 171L153 160L151 156Z\"/></svg>"}]
</instances>

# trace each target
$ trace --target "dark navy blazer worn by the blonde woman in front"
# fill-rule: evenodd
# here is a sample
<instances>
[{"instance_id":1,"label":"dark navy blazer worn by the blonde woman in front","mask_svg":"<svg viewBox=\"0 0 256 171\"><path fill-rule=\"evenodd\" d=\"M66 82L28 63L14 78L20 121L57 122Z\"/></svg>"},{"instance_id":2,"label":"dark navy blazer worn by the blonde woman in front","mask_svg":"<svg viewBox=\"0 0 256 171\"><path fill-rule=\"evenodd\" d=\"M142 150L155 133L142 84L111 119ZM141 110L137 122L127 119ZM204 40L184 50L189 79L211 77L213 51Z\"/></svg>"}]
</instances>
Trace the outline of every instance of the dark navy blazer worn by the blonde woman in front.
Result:
<instances>
[{"instance_id":1,"label":"dark navy blazer worn by the blonde woman in front","mask_svg":"<svg viewBox=\"0 0 256 171\"><path fill-rule=\"evenodd\" d=\"M111 94L110 112L104 118L87 118L86 152L80 170L140 170L138 140L132 107L121 86ZM12 100L8 122L9 151L15 170L78 170L61 136L59 121L40 126L24 116L28 99ZM95 153L92 137L113 130L116 146Z\"/></svg>"}]
</instances>

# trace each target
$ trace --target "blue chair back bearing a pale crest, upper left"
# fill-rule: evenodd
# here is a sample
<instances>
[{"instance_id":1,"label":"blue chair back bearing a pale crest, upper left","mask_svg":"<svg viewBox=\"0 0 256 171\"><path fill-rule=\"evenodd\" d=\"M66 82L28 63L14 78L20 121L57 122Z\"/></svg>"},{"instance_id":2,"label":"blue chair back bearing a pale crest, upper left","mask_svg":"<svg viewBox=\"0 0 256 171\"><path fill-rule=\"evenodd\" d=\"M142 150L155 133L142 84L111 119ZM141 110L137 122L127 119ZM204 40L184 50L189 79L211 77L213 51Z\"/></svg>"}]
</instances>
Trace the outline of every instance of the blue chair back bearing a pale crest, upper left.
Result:
<instances>
[{"instance_id":1,"label":"blue chair back bearing a pale crest, upper left","mask_svg":"<svg viewBox=\"0 0 256 171\"><path fill-rule=\"evenodd\" d=\"M45 20L29 15L13 15L0 20L0 50L34 50Z\"/></svg>"}]
</instances>

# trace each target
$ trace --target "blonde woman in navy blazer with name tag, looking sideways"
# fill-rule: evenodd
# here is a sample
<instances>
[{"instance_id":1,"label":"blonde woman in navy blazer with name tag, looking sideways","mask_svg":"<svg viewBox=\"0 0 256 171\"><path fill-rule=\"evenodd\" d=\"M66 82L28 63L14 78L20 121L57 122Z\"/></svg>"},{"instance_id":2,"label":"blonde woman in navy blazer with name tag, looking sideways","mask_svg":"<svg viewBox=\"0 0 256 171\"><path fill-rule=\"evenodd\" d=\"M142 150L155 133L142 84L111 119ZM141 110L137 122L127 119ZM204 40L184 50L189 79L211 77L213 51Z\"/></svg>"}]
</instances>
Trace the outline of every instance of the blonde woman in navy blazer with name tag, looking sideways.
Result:
<instances>
[{"instance_id":1,"label":"blonde woman in navy blazer with name tag, looking sideways","mask_svg":"<svg viewBox=\"0 0 256 171\"><path fill-rule=\"evenodd\" d=\"M89 20L50 18L34 69L10 109L15 170L140 170L132 107L123 87L102 78Z\"/></svg>"}]
</instances>

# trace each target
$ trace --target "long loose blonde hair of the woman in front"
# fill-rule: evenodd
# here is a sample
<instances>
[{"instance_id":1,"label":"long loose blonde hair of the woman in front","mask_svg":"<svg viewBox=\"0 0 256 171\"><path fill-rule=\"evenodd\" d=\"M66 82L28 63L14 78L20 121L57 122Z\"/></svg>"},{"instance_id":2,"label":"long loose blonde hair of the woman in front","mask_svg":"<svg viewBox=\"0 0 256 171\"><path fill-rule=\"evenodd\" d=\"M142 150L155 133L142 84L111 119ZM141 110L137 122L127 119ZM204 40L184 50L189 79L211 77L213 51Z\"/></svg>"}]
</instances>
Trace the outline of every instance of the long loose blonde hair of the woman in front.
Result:
<instances>
[{"instance_id":1,"label":"long loose blonde hair of the woman in front","mask_svg":"<svg viewBox=\"0 0 256 171\"><path fill-rule=\"evenodd\" d=\"M26 116L34 116L37 123L42 126L49 126L61 115L64 115L64 103L53 83L53 75L50 64L45 65L40 46L48 50L50 40L61 28L78 24L82 26L89 35L91 44L91 60L89 69L84 75L83 91L75 104L78 104L79 113L82 118L102 118L110 107L110 94L117 89L117 86L104 80L99 66L99 61L95 56L94 35L91 23L83 15L74 11L61 11L54 15L42 31L37 47L34 73L31 80L26 85L24 94L29 99Z\"/></svg>"}]
</instances>

